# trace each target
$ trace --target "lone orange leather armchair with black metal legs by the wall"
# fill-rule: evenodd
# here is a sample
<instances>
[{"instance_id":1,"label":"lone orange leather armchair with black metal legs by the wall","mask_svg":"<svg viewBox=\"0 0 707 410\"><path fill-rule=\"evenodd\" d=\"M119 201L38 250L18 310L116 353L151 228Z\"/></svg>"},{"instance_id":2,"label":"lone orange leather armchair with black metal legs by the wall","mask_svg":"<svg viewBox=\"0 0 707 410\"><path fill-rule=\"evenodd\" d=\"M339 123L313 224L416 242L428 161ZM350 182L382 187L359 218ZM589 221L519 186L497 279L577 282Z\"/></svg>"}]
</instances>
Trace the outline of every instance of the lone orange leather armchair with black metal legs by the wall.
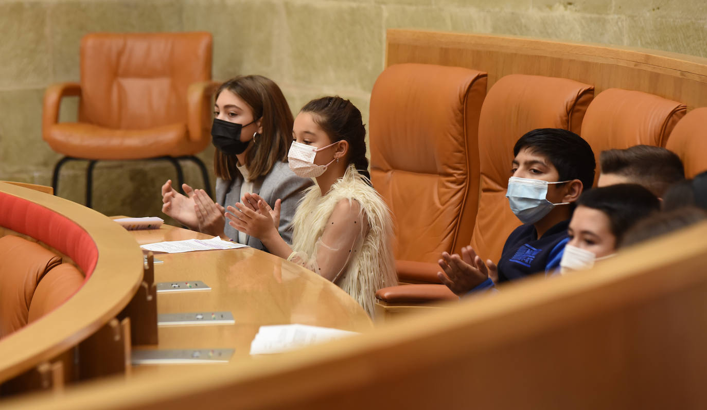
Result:
<instances>
[{"instance_id":1,"label":"lone orange leather armchair with black metal legs by the wall","mask_svg":"<svg viewBox=\"0 0 707 410\"><path fill-rule=\"evenodd\" d=\"M93 168L98 160L169 160L184 180L179 160L195 157L211 139L210 33L95 33L81 39L81 83L47 88L42 136L69 160L88 160L86 206L91 205ZM65 96L79 96L78 122L59 123Z\"/></svg>"}]
</instances>

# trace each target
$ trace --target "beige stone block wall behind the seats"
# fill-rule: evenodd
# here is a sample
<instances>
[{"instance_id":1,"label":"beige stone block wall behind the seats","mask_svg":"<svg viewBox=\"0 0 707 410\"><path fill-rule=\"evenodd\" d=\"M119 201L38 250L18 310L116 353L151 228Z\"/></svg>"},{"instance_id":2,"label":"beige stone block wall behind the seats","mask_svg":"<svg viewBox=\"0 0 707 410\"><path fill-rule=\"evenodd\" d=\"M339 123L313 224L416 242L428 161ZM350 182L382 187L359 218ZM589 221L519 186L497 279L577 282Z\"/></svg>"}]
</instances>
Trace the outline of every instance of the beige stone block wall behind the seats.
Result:
<instances>
[{"instance_id":1,"label":"beige stone block wall behind the seats","mask_svg":"<svg viewBox=\"0 0 707 410\"><path fill-rule=\"evenodd\" d=\"M0 180L51 185L59 156L42 141L42 95L78 80L78 43L93 31L209 30L214 78L262 74L293 112L320 95L350 98L368 118L387 28L524 35L707 57L704 0L0 0ZM62 105L76 117L76 100ZM208 163L212 148L201 157ZM62 197L83 203L86 165L66 165ZM200 185L197 170L187 182ZM147 172L145 172L147 171ZM99 163L94 207L159 215L170 165Z\"/></svg>"}]
</instances>

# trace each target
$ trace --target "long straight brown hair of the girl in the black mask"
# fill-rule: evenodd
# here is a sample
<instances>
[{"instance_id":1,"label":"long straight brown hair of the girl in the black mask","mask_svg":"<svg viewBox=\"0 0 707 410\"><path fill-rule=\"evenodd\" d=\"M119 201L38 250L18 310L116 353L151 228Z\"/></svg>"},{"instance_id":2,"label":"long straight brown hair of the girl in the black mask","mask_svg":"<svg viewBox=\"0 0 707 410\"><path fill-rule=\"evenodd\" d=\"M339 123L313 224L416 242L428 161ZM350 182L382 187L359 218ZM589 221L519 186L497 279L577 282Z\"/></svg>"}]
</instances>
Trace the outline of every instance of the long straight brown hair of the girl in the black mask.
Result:
<instances>
[{"instance_id":1,"label":"long straight brown hair of the girl in the black mask","mask_svg":"<svg viewBox=\"0 0 707 410\"><path fill-rule=\"evenodd\" d=\"M277 161L287 160L289 143L292 140L294 122L287 100L282 90L274 81L264 76L238 76L221 84L216 91L216 98L221 91L229 90L238 95L250 106L253 119L262 119L263 132L253 141L252 148L246 153L250 180L267 175ZM236 168L238 158L228 156L218 149L214 152L214 174L230 181L240 174Z\"/></svg>"}]
</instances>

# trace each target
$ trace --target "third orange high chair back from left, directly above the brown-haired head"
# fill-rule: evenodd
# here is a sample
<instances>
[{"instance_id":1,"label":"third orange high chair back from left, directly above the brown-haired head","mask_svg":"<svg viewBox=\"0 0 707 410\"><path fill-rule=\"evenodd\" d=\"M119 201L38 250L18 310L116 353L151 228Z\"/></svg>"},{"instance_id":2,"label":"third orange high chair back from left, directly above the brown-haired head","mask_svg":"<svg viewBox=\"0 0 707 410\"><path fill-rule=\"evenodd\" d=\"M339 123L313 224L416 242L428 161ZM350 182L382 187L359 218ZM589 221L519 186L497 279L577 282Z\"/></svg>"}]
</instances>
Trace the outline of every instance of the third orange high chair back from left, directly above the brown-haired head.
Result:
<instances>
[{"instance_id":1,"label":"third orange high chair back from left, directly above the brown-haired head","mask_svg":"<svg viewBox=\"0 0 707 410\"><path fill-rule=\"evenodd\" d=\"M598 168L599 155L607 149L638 144L665 146L686 110L684 104L658 95L609 88L597 95L587 108L580 135L592 146ZM595 182L599 178L598 171Z\"/></svg>"}]
</instances>

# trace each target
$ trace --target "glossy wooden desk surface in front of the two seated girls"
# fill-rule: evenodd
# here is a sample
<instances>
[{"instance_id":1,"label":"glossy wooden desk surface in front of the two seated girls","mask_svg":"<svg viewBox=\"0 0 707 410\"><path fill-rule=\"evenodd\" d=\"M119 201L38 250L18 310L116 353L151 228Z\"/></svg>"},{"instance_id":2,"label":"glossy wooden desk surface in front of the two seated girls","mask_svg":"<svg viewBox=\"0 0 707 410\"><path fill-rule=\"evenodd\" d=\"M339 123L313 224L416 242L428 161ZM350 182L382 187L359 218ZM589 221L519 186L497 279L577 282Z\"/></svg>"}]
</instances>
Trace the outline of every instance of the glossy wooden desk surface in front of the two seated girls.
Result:
<instances>
[{"instance_id":1,"label":"glossy wooden desk surface in front of the two seated girls","mask_svg":"<svg viewBox=\"0 0 707 410\"><path fill-rule=\"evenodd\" d=\"M163 240L211 238L163 225L136 230L140 245ZM373 324L361 305L341 288L308 269L251 247L156 254L155 281L204 281L211 291L158 293L158 313L230 311L235 324L160 326L158 346L134 349L234 348L231 362L250 358L250 342L261 325L300 323L365 332ZM219 365L219 364L217 364ZM173 373L194 365L141 365L133 373Z\"/></svg>"}]
</instances>

